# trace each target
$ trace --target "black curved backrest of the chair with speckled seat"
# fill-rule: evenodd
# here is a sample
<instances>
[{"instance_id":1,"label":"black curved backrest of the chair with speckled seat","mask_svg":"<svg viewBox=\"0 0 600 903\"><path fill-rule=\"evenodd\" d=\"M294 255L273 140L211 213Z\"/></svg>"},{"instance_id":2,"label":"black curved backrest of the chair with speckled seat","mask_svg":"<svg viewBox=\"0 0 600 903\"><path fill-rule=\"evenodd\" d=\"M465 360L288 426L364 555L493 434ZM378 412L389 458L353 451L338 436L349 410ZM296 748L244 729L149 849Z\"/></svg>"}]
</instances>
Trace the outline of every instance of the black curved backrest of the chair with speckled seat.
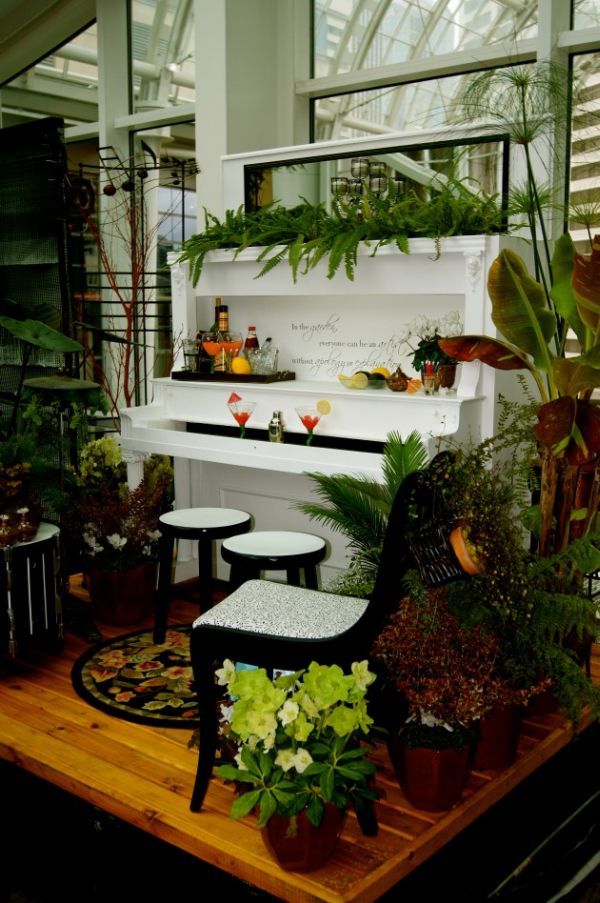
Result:
<instances>
[{"instance_id":1,"label":"black curved backrest of the chair with speckled seat","mask_svg":"<svg viewBox=\"0 0 600 903\"><path fill-rule=\"evenodd\" d=\"M403 580L417 569L425 586L441 586L464 577L448 542L448 526L436 524L439 472L453 460L440 452L423 470L409 474L400 485L388 518L375 588L361 627L374 639L395 611ZM433 480L433 473L438 479Z\"/></svg>"}]
</instances>

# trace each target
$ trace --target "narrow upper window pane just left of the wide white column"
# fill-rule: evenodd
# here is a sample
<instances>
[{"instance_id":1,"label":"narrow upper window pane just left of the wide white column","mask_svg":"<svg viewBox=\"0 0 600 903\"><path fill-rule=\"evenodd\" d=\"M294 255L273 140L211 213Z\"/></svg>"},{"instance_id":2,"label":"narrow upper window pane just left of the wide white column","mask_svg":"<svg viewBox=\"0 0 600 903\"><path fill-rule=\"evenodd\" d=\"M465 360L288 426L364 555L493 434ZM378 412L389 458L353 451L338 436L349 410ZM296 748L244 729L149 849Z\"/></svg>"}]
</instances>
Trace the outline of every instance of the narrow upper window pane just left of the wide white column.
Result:
<instances>
[{"instance_id":1,"label":"narrow upper window pane just left of the wide white column","mask_svg":"<svg viewBox=\"0 0 600 903\"><path fill-rule=\"evenodd\" d=\"M133 97L145 105L195 99L192 0L131 0Z\"/></svg>"}]
</instances>

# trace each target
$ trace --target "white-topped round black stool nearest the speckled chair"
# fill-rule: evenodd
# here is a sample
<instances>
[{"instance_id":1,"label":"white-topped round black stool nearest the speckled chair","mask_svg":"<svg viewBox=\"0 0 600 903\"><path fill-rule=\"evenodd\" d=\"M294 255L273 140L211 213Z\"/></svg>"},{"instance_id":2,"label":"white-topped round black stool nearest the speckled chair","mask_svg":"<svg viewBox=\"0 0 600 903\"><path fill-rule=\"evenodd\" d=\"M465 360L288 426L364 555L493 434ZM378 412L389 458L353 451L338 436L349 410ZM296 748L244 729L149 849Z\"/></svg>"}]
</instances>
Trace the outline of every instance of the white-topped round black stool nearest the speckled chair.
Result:
<instances>
[{"instance_id":1,"label":"white-topped round black stool nearest the speckled chair","mask_svg":"<svg viewBox=\"0 0 600 903\"><path fill-rule=\"evenodd\" d=\"M320 536L285 530L256 531L233 536L221 546L221 555L231 565L229 585L236 589L245 580L260 577L261 571L286 571L287 581L300 586L300 569L308 589L317 589L319 561L327 545Z\"/></svg>"}]
</instances>

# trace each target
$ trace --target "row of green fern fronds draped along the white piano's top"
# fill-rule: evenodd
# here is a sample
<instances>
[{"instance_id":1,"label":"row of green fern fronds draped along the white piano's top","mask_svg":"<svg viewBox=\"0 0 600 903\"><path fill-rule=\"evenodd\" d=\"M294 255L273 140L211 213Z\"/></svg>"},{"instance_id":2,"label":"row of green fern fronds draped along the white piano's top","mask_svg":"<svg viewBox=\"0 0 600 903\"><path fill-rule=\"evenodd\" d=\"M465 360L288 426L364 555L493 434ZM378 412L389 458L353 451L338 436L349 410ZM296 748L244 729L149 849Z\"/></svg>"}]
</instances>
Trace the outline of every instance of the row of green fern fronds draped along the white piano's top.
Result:
<instances>
[{"instance_id":1,"label":"row of green fern fronds draped along the white piano's top","mask_svg":"<svg viewBox=\"0 0 600 903\"><path fill-rule=\"evenodd\" d=\"M334 204L328 212L323 204L304 201L292 209L269 204L254 212L242 207L227 210L221 221L205 210L205 228L183 244L180 261L188 261L190 278L196 285L209 251L235 249L235 257L248 247L261 247L258 256L263 276L287 259L294 281L327 258L327 276L332 279L343 267L354 278L361 242L373 246L393 244L408 253L408 238L489 234L503 227L503 212L496 196L474 192L464 183L447 179L430 186L427 202L416 192L391 200L367 191L358 204Z\"/></svg>"}]
</instances>

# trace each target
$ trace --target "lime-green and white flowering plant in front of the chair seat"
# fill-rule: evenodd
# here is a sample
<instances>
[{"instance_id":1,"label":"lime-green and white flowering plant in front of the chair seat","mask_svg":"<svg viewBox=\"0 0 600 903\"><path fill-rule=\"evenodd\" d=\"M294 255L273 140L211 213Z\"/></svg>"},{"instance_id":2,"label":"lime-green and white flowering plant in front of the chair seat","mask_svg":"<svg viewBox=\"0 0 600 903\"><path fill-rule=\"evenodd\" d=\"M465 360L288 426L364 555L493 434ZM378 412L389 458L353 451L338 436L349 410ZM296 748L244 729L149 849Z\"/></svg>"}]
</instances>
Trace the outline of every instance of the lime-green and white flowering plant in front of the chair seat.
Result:
<instances>
[{"instance_id":1,"label":"lime-green and white flowering plant in front of the chair seat","mask_svg":"<svg viewBox=\"0 0 600 903\"><path fill-rule=\"evenodd\" d=\"M351 671L311 662L271 680L264 668L236 671L225 660L217 677L235 698L224 718L237 753L236 764L221 765L217 774L251 785L236 797L233 818L258 807L263 827L272 815L305 809L319 825L325 803L345 809L352 800L360 811L377 799L368 786L375 765L360 742L373 723L366 693L375 675L366 661Z\"/></svg>"}]
</instances>

